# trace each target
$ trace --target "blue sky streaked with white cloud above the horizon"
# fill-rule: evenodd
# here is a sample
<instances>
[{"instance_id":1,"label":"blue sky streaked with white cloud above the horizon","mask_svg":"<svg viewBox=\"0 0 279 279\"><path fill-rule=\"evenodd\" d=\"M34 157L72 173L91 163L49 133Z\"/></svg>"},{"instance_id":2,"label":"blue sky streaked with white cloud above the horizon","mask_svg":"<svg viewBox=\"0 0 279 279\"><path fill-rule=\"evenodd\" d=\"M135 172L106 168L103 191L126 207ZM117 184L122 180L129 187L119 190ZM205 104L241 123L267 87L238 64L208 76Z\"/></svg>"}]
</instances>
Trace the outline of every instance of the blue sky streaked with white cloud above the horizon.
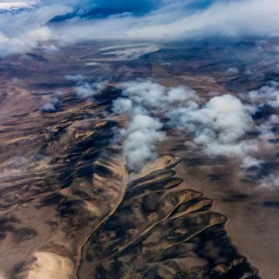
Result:
<instances>
[{"instance_id":1,"label":"blue sky streaked with white cloud above the horizon","mask_svg":"<svg viewBox=\"0 0 279 279\"><path fill-rule=\"evenodd\" d=\"M279 27L278 0L26 0L1 1L0 11L1 56L49 40L273 37Z\"/></svg>"}]
</instances>

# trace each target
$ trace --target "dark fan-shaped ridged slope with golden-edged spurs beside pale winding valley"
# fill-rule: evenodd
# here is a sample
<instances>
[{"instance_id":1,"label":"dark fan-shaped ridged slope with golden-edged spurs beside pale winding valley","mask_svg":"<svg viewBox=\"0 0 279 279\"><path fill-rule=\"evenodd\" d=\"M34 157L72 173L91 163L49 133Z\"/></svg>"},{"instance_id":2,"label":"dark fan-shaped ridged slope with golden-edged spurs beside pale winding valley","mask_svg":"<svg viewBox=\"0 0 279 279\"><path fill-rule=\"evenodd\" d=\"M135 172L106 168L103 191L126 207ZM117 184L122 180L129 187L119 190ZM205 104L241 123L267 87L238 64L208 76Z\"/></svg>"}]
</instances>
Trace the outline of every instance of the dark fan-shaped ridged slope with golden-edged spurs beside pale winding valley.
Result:
<instances>
[{"instance_id":1,"label":"dark fan-shaped ridged slope with golden-edged spurs beside pale winding valley","mask_svg":"<svg viewBox=\"0 0 279 279\"><path fill-rule=\"evenodd\" d=\"M258 278L229 242L227 218L210 210L212 200L176 190L179 161L160 157L146 168L153 172L133 177L84 246L79 278Z\"/></svg>"}]
</instances>

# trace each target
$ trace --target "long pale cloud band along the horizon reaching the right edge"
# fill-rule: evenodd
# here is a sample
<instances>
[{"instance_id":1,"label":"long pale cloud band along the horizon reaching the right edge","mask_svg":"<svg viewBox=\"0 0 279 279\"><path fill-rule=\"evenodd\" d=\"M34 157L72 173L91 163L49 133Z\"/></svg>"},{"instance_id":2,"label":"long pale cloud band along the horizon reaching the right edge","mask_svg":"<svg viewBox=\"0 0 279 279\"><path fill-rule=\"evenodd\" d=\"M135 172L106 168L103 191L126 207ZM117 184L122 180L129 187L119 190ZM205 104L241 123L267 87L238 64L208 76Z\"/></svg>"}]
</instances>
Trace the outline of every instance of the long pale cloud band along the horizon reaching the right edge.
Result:
<instances>
[{"instance_id":1,"label":"long pale cloud band along the horizon reaching the right edge","mask_svg":"<svg viewBox=\"0 0 279 279\"><path fill-rule=\"evenodd\" d=\"M114 15L98 20L72 20L54 25L63 40L176 40L210 36L277 36L276 0L213 1L202 9L187 9L186 1L165 3L141 16Z\"/></svg>"}]
</instances>

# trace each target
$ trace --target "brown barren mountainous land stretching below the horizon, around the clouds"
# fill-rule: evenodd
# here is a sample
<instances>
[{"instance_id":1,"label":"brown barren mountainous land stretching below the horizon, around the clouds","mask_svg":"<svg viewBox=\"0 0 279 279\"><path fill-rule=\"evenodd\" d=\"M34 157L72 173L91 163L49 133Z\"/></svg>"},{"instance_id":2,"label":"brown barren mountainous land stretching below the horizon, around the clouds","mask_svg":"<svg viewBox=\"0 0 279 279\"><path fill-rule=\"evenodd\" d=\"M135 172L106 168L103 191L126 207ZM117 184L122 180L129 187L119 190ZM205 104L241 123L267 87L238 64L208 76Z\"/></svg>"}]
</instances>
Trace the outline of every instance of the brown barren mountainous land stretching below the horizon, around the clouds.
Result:
<instances>
[{"instance_id":1,"label":"brown barren mountainous land stretching below the horizon, around the clouds","mask_svg":"<svg viewBox=\"0 0 279 279\"><path fill-rule=\"evenodd\" d=\"M134 115L115 109L126 96L119 84L139 78L187 86L202 104L225 94L245 100L279 82L275 43L127 51L99 42L1 59L0 278L276 279L279 188L259 181L278 174L278 123L269 148L255 151L261 168L243 171L237 157L186 144L192 134L169 126L169 107L135 107L152 107L164 137L131 169L123 138ZM261 107L252 120L262 127L276 114ZM246 132L241 139L259 134Z\"/></svg>"}]
</instances>

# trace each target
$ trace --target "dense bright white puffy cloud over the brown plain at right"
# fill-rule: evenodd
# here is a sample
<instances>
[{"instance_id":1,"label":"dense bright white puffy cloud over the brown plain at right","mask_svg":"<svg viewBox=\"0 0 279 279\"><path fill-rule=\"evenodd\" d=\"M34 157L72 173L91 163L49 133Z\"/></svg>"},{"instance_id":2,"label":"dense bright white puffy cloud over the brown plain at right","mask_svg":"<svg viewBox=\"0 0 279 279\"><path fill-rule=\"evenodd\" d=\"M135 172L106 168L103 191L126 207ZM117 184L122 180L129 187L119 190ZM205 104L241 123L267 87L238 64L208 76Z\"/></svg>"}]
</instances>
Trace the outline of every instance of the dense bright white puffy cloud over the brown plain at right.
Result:
<instances>
[{"instance_id":1,"label":"dense bright white puffy cloud over the brown plain at right","mask_svg":"<svg viewBox=\"0 0 279 279\"><path fill-rule=\"evenodd\" d=\"M257 142L241 139L253 128L252 116L250 108L235 96L216 96L202 107L179 107L167 112L167 116L169 126L190 133L193 143L209 156L245 158L257 151Z\"/></svg>"}]
</instances>

